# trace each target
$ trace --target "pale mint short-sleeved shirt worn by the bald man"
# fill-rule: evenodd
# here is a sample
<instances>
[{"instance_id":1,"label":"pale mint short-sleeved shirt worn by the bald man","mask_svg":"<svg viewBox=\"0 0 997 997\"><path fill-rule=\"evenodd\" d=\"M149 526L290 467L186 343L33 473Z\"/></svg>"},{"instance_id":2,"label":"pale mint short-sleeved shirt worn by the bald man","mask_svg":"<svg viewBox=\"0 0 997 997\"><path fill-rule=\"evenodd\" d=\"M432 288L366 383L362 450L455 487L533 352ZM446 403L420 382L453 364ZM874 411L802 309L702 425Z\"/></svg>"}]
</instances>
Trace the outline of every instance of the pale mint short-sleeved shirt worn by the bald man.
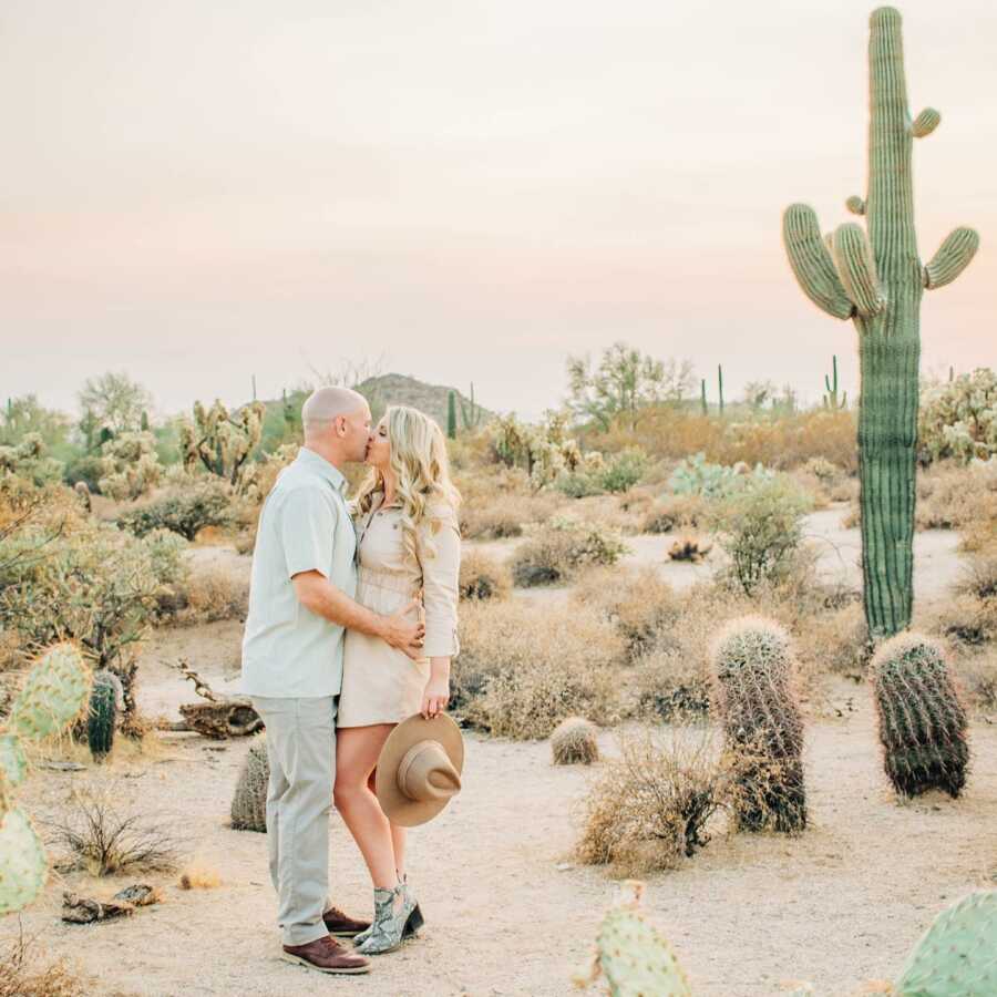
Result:
<instances>
[{"instance_id":1,"label":"pale mint short-sleeved shirt worn by the bald man","mask_svg":"<svg viewBox=\"0 0 997 997\"><path fill-rule=\"evenodd\" d=\"M302 446L281 471L259 514L240 687L247 696L338 696L343 627L305 608L291 577L321 572L357 594L357 537L346 479Z\"/></svg>"}]
</instances>

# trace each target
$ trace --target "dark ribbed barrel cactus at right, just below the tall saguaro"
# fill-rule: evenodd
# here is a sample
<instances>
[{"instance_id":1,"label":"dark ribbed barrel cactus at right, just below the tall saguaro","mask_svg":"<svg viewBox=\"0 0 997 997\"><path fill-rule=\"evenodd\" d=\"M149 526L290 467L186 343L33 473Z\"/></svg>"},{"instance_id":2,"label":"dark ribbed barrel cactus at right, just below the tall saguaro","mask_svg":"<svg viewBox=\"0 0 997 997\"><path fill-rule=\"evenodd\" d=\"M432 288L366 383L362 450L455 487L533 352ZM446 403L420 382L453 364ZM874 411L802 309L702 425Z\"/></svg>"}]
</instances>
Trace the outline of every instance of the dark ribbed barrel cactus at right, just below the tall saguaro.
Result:
<instances>
[{"instance_id":1,"label":"dark ribbed barrel cactus at right, just below the tall saguaro","mask_svg":"<svg viewBox=\"0 0 997 997\"><path fill-rule=\"evenodd\" d=\"M886 774L904 796L945 790L957 796L969 762L966 710L938 641L900 634L871 665Z\"/></svg>"}]
</instances>

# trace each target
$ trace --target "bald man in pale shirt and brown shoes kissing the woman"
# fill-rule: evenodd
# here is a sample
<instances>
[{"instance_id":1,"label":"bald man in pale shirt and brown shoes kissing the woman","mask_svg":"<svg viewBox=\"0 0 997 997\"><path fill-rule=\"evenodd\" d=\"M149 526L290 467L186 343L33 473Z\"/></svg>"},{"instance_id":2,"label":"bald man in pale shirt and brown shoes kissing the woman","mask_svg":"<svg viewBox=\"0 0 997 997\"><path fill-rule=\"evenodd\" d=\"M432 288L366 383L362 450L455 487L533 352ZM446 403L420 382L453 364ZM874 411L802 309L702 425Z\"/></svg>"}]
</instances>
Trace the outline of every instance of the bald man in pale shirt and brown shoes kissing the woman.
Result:
<instances>
[{"instance_id":1,"label":"bald man in pale shirt and brown shoes kissing the woman","mask_svg":"<svg viewBox=\"0 0 997 997\"><path fill-rule=\"evenodd\" d=\"M346 628L419 658L414 600L394 616L353 600L356 535L340 467L362 461L370 409L362 395L320 388L301 410L305 445L259 516L243 640L241 687L267 728L267 840L284 957L322 973L370 968L332 937L364 929L328 898L329 809Z\"/></svg>"}]
</instances>

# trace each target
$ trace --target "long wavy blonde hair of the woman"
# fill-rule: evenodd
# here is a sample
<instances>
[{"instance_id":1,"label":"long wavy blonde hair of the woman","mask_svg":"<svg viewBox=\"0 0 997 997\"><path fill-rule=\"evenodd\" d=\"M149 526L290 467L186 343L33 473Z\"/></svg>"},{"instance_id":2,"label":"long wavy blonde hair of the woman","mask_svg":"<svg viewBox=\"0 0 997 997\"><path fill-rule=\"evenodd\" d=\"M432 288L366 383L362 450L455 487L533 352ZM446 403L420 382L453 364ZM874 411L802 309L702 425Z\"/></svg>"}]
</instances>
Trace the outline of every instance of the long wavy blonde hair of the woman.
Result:
<instances>
[{"instance_id":1,"label":"long wavy blonde hair of the woman","mask_svg":"<svg viewBox=\"0 0 997 997\"><path fill-rule=\"evenodd\" d=\"M397 481L395 494L401 505L402 543L407 556L419 562L418 527L430 520L431 506L445 503L454 512L461 504L461 493L450 480L450 459L446 440L440 426L418 409L409 405L390 405L384 413L388 423L388 443L391 451L391 470ZM369 513L377 496L384 493L384 476L373 467L353 500L360 514ZM434 526L434 530L439 525ZM432 544L423 544L423 552L432 556Z\"/></svg>"}]
</instances>

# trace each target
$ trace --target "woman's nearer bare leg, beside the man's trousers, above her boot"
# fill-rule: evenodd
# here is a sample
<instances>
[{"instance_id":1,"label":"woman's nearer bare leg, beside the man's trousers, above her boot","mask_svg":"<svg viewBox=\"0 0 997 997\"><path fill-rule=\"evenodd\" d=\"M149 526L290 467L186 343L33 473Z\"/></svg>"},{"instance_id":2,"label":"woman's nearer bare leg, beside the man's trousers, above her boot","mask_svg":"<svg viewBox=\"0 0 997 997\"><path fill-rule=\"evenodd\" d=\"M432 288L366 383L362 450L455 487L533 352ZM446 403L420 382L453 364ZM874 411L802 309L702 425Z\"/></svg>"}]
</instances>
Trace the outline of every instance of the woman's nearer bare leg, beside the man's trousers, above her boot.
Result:
<instances>
[{"instance_id":1,"label":"woman's nearer bare leg, beside the man's trousers, above her boot","mask_svg":"<svg viewBox=\"0 0 997 997\"><path fill-rule=\"evenodd\" d=\"M391 824L371 789L371 773L393 723L343 727L336 732L336 809L350 829L374 886L398 885Z\"/></svg>"}]
</instances>

